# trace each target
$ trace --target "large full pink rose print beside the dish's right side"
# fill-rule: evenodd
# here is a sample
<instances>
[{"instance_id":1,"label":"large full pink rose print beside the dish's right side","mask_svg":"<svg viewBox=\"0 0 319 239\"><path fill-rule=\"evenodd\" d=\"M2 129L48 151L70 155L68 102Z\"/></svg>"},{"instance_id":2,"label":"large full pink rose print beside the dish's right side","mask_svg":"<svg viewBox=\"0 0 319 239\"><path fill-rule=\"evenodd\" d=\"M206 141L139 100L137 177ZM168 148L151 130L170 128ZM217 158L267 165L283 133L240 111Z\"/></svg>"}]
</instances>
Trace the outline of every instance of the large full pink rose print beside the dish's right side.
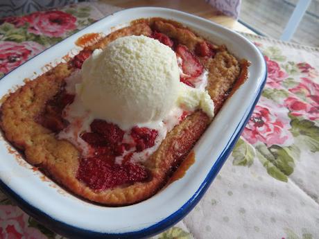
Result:
<instances>
[{"instance_id":1,"label":"large full pink rose print beside the dish's right side","mask_svg":"<svg viewBox=\"0 0 319 239\"><path fill-rule=\"evenodd\" d=\"M293 136L288 131L290 119L287 115L286 108L278 107L272 101L261 97L242 135L252 144L260 141L268 147L273 144L289 145Z\"/></svg>"}]
</instances>

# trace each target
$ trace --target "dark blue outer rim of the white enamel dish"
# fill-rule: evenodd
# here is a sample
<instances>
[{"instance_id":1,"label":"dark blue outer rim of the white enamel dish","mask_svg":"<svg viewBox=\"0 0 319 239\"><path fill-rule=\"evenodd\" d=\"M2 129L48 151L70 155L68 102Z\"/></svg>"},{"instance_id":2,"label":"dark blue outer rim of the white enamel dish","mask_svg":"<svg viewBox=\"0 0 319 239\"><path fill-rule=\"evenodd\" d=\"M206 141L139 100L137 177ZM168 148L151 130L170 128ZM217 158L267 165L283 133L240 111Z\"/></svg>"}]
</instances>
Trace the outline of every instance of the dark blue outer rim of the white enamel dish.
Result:
<instances>
[{"instance_id":1,"label":"dark blue outer rim of the white enamel dish","mask_svg":"<svg viewBox=\"0 0 319 239\"><path fill-rule=\"evenodd\" d=\"M106 17L109 17L109 16L106 16ZM103 17L103 19L104 18L105 17ZM92 25L90 25L90 26L92 26ZM89 26L86 26L85 28L87 28L87 27L89 27ZM83 29L85 29L85 28L83 28ZM82 31L83 29L81 29L80 31ZM78 33L80 33L80 31L78 31ZM71 36L69 36L69 37L71 37ZM67 38L69 38L69 37L67 37ZM65 38L65 39L67 39L67 38ZM57 44L60 44L60 43L61 42L58 42ZM57 44L54 44L53 46L55 46ZM50 46L49 48L51 48L53 46ZM44 51L49 50L49 48L46 48ZM44 51L42 51L42 53L44 53ZM257 51L259 51L258 48L257 48ZM40 53L38 55L41 55L42 53ZM259 51L259 53L261 54L261 51ZM37 56L37 55L35 55L35 56ZM262 56L262 54L261 54L261 56ZM33 57L31 57L29 60L32 60L32 59L33 59ZM29 60L27 60L26 62L28 62ZM264 60L264 57L263 57L263 60ZM25 64L26 62L24 62L23 64ZM15 71L16 69L13 69L12 71ZM228 158L228 156L232 152L232 149L234 148L236 141L239 139L239 136L241 136L241 132L245 128L245 125L248 122L252 112L255 109L255 105L257 104L257 102L261 96L261 92L263 91L264 86L266 85L266 79L267 79L267 74L268 74L267 67L266 67L266 60L264 60L264 69L265 69L264 79L261 82L261 85L258 89L257 94L255 95L255 100L252 102L250 107L248 107L248 109L246 110L245 114L243 115L243 118L241 118L241 121L236 126L236 130L234 130L234 134L232 134L232 136L230 137L230 141L228 141L227 144L225 145L225 148L223 148L223 151L219 155L218 159L216 160L216 162L214 163L212 168L209 170L207 177L202 182L202 184L200 184L200 187L198 188L196 193L194 193L193 196L183 206L180 207L180 209L175 211L175 213L169 215L169 217L165 218L164 220L161 220L160 222L157 222L156 224L153 224L150 227L141 229L139 231L132 231L132 232L126 232L126 233L101 233L101 232L96 232L96 231L89 231L86 229L80 229L80 228L74 227L70 224L60 222L60 221L52 218L50 215L47 215L46 213L44 213L40 209L37 209L35 206L29 204L28 202L26 202L26 200L24 200L22 197L20 197L20 195L15 193L15 191L12 191L12 189L9 188L1 179L0 179L0 189L1 189L1 191L3 191L3 193L6 193L6 195L10 198L10 200L15 202L23 211L28 213L28 215L31 215L31 217L35 218L35 220L40 221L42 224L44 224L44 226L51 229L52 231L55 231L56 233L59 233L62 236L67 236L68 238L79 238L79 239L80 238L92 238L92 239L102 239L102 238L110 238L110 239L131 238L131 239L135 239L136 238L137 239L137 238L147 238L150 236L154 236L157 233L160 233L160 232L164 231L165 229L172 227L174 224L176 224L177 222L182 220L182 218L184 218L196 206L196 204L198 204L198 202L200 201L202 196L205 195L205 192L209 188L210 184L212 184L212 182L214 181L219 170L221 170L226 159ZM12 73L12 71L10 71L9 73ZM9 73L7 73L6 76L8 76ZM6 76L3 76L3 78ZM3 78L0 78L0 80L2 80Z\"/></svg>"}]
</instances>

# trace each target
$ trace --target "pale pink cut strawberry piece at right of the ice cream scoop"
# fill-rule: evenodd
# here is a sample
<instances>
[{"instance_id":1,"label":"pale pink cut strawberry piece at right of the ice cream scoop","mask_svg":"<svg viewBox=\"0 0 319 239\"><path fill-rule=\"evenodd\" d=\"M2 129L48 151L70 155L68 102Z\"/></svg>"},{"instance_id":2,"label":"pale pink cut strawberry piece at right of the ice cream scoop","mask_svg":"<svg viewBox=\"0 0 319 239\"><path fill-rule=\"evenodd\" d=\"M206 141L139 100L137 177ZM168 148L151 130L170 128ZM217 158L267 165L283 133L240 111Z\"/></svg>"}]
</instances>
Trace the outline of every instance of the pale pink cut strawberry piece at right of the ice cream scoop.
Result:
<instances>
[{"instance_id":1,"label":"pale pink cut strawberry piece at right of the ice cream scoop","mask_svg":"<svg viewBox=\"0 0 319 239\"><path fill-rule=\"evenodd\" d=\"M182 70L185 74L191 77L197 77L202 74L204 67L186 46L179 44L175 51L183 60Z\"/></svg>"}]
</instances>

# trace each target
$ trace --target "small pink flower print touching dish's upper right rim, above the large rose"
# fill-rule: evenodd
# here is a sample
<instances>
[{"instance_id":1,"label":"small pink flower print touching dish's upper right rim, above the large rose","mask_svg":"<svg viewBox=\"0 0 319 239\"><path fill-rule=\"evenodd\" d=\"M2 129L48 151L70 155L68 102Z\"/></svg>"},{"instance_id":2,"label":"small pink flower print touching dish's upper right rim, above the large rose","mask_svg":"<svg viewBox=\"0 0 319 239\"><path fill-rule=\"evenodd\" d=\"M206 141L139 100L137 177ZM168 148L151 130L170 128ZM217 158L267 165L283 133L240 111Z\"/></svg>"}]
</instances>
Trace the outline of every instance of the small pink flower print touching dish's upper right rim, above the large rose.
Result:
<instances>
[{"instance_id":1,"label":"small pink flower print touching dish's upper right rim, above the large rose","mask_svg":"<svg viewBox=\"0 0 319 239\"><path fill-rule=\"evenodd\" d=\"M265 60L267 63L267 70L268 70L268 78L267 78L267 85L269 87L279 89L282 86L280 83L288 77L288 74L282 69L280 69L279 64L273 60L270 60L267 56L265 56Z\"/></svg>"}]
</instances>

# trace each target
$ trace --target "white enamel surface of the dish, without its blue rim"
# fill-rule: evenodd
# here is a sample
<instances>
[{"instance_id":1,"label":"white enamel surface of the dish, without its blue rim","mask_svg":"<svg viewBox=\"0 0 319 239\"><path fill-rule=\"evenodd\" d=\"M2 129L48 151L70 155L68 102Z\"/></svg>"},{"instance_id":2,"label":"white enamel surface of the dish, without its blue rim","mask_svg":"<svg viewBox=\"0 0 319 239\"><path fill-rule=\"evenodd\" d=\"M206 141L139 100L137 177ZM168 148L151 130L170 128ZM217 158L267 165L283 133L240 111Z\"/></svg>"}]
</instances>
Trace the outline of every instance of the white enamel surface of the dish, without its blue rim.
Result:
<instances>
[{"instance_id":1,"label":"white enamel surface of the dish, without its blue rim","mask_svg":"<svg viewBox=\"0 0 319 239\"><path fill-rule=\"evenodd\" d=\"M0 139L0 179L26 202L55 220L74 227L105 233L125 233L150 227L169 217L193 197L200 188L218 156L227 148L237 125L248 114L266 72L262 55L241 35L193 15L164 8L132 8L116 12L79 33L65 39L26 62L0 80L0 98L15 85L23 85L24 78L35 78L44 64L61 59L67 52L76 52L74 42L85 33L110 33L114 26L124 26L133 19L164 17L180 21L200 35L217 44L225 44L239 58L252 62L250 76L223 106L212 125L196 144L196 162L187 174L150 199L132 206L111 208L91 204L67 192L53 182L44 182L40 172L33 172L23 160L8 153L8 143ZM117 28L119 28L117 27ZM56 62L55 62L56 63ZM53 63L54 65L54 63ZM35 74L33 73L35 72ZM20 164L19 164L20 162ZM53 186L52 186L53 185ZM54 186L55 185L55 186Z\"/></svg>"}]
</instances>

